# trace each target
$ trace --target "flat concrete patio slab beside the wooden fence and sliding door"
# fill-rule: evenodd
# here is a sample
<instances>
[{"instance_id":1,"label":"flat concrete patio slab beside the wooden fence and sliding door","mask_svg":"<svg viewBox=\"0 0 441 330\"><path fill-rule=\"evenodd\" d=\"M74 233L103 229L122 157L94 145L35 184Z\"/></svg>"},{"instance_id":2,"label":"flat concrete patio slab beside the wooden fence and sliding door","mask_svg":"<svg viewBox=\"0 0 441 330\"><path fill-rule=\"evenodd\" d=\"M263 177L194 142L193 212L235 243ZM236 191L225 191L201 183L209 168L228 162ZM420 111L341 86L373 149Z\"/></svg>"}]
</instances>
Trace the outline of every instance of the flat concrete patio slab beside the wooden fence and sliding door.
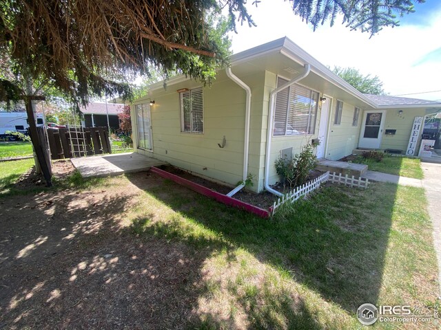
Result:
<instances>
[{"instance_id":1,"label":"flat concrete patio slab beside the wooden fence and sliding door","mask_svg":"<svg viewBox=\"0 0 441 330\"><path fill-rule=\"evenodd\" d=\"M118 153L116 155L71 158L70 161L79 170L82 177L106 177L123 173L141 172L143 170L150 170L152 166L165 164L165 162L141 155L140 153Z\"/></svg>"}]
</instances>

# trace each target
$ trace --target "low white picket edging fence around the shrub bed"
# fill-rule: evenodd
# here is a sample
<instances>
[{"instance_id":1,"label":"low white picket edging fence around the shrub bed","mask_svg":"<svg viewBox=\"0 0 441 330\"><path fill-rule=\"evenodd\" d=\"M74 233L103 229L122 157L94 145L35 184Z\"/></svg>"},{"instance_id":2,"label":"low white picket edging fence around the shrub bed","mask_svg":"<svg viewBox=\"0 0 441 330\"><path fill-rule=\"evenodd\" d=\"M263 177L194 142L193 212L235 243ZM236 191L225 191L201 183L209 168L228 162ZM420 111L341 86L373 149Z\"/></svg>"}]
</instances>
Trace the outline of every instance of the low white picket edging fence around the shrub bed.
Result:
<instances>
[{"instance_id":1,"label":"low white picket edging fence around the shrub bed","mask_svg":"<svg viewBox=\"0 0 441 330\"><path fill-rule=\"evenodd\" d=\"M358 177L358 179L356 179L353 177L353 175L352 177L349 177L348 175L342 176L341 173L336 175L335 172L331 174L328 171L327 173L323 173L322 175L320 175L320 177L316 177L316 179L311 180L306 184L303 184L302 186L298 186L294 190L291 190L287 194L280 197L277 201L274 202L271 208L271 215L274 215L276 209L279 206L286 203L287 201L290 202L296 201L300 197L308 195L309 192L312 192L320 188L320 185L327 181L331 181L332 183L345 184L351 187L359 187L359 188L367 188L367 185L369 184L369 180L362 179L362 177Z\"/></svg>"}]
</instances>

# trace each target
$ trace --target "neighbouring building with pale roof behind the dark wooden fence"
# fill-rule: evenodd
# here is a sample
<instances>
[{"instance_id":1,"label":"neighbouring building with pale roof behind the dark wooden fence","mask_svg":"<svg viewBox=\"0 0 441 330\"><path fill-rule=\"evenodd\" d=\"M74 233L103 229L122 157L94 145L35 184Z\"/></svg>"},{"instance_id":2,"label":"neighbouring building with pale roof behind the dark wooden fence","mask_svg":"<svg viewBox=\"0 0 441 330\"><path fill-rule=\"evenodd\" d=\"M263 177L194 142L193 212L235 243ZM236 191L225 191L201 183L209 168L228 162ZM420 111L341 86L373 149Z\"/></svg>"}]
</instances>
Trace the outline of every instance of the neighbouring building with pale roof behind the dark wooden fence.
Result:
<instances>
[{"instance_id":1,"label":"neighbouring building with pale roof behind the dark wooden fence","mask_svg":"<svg viewBox=\"0 0 441 330\"><path fill-rule=\"evenodd\" d=\"M119 129L118 113L123 111L124 104L118 103L100 103L91 102L87 107L80 108L83 113L84 120L81 124L83 127L108 127L107 113L109 117L110 129L116 131Z\"/></svg>"}]
</instances>

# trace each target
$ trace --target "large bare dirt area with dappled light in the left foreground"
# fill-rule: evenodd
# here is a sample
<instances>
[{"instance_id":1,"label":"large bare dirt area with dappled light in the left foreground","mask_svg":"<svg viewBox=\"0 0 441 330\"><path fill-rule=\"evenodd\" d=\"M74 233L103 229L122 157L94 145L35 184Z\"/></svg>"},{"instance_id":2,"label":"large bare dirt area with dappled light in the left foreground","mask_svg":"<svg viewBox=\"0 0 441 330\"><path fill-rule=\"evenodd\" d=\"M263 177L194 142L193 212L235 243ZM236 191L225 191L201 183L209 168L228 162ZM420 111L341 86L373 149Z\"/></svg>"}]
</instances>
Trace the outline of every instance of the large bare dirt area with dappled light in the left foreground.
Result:
<instances>
[{"instance_id":1,"label":"large bare dirt area with dappled light in the left foreground","mask_svg":"<svg viewBox=\"0 0 441 330\"><path fill-rule=\"evenodd\" d=\"M0 328L183 329L205 252L134 235L126 214L143 193L116 177L105 190L1 200Z\"/></svg>"}]
</instances>

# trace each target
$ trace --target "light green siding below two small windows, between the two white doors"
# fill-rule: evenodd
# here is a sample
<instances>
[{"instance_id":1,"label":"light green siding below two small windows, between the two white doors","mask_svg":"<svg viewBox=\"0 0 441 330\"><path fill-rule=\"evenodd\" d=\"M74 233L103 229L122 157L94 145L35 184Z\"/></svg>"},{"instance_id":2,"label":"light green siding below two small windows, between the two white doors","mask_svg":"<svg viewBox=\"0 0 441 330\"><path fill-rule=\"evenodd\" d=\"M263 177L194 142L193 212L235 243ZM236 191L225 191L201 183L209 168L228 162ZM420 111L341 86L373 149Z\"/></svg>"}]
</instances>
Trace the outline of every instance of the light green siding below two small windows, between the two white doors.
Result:
<instances>
[{"instance_id":1,"label":"light green siding below two small windows, between the two white doors","mask_svg":"<svg viewBox=\"0 0 441 330\"><path fill-rule=\"evenodd\" d=\"M358 125L352 126L354 106L343 102L342 120L340 124L334 124L337 100L334 98L329 114L330 126L327 142L326 158L337 160L351 155L353 149L358 146L362 113L358 118Z\"/></svg>"}]
</instances>

